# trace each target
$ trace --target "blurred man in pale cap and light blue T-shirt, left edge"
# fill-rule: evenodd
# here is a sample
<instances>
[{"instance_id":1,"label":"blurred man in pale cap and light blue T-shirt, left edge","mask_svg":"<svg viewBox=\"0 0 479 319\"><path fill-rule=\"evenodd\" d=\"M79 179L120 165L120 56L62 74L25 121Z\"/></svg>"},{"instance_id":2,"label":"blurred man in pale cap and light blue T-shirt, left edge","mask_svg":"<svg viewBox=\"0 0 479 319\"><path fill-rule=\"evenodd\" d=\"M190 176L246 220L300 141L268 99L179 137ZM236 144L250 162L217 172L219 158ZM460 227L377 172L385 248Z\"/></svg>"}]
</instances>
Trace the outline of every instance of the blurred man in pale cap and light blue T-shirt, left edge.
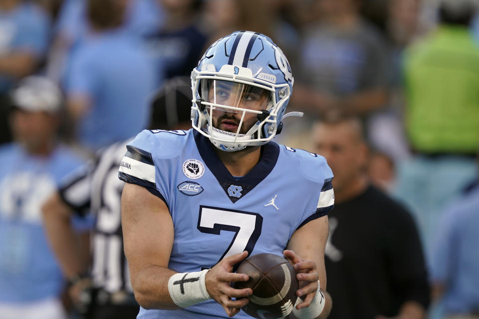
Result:
<instances>
[{"instance_id":1,"label":"blurred man in pale cap and light blue T-shirt, left edge","mask_svg":"<svg viewBox=\"0 0 479 319\"><path fill-rule=\"evenodd\" d=\"M0 314L2 319L63 319L63 278L48 247L40 207L82 160L57 145L58 88L27 77L11 93L14 142L0 148Z\"/></svg>"}]
</instances>

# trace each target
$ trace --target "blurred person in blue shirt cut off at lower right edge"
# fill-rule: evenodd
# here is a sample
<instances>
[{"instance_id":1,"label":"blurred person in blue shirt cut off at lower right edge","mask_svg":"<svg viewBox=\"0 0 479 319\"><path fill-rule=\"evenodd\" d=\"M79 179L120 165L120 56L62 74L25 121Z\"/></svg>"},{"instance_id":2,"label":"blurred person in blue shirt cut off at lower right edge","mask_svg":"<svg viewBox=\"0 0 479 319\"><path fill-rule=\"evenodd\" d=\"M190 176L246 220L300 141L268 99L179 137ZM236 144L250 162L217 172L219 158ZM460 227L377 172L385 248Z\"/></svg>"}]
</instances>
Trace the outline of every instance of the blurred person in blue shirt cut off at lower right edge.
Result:
<instances>
[{"instance_id":1,"label":"blurred person in blue shirt cut off at lower right edge","mask_svg":"<svg viewBox=\"0 0 479 319\"><path fill-rule=\"evenodd\" d=\"M431 276L447 316L479 318L479 186L443 216ZM461 317L462 316L462 317Z\"/></svg>"}]
</instances>

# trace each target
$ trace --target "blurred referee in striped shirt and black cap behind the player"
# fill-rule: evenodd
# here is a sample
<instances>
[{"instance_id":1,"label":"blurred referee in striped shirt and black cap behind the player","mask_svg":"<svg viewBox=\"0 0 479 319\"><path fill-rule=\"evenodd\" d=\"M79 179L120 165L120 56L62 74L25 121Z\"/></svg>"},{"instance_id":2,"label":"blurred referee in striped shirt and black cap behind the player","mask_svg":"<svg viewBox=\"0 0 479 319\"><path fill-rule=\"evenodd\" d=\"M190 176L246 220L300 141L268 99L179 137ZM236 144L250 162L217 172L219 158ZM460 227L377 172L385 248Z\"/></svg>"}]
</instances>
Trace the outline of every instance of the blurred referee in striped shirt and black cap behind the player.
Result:
<instances>
[{"instance_id":1,"label":"blurred referee in striped shirt and black cap behind the player","mask_svg":"<svg viewBox=\"0 0 479 319\"><path fill-rule=\"evenodd\" d=\"M190 128L190 94L189 78L165 82L152 95L150 127ZM42 208L47 237L67 279L69 297L76 312L87 319L133 319L139 311L123 252L120 199L124 182L117 177L128 142L99 150L97 158L68 176ZM91 263L86 269L72 227L73 215L94 220Z\"/></svg>"}]
</instances>

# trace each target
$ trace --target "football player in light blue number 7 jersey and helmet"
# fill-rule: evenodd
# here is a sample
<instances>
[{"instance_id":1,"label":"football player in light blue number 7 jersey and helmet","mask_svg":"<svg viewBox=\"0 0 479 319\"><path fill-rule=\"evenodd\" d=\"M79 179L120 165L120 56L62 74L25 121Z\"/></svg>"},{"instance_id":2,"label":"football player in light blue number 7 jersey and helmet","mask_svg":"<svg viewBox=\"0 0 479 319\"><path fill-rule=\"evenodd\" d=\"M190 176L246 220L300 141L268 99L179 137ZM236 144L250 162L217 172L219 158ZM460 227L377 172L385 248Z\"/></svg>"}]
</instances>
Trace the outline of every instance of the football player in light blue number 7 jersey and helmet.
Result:
<instances>
[{"instance_id":1,"label":"football player in light blue number 7 jersey and helmet","mask_svg":"<svg viewBox=\"0 0 479 319\"><path fill-rule=\"evenodd\" d=\"M191 79L193 129L141 132L119 168L138 318L250 318L240 308L252 290L231 283L248 280L234 272L246 256L265 252L298 272L284 317L326 318L333 175L324 158L271 141L292 92L286 57L267 36L237 31Z\"/></svg>"}]
</instances>

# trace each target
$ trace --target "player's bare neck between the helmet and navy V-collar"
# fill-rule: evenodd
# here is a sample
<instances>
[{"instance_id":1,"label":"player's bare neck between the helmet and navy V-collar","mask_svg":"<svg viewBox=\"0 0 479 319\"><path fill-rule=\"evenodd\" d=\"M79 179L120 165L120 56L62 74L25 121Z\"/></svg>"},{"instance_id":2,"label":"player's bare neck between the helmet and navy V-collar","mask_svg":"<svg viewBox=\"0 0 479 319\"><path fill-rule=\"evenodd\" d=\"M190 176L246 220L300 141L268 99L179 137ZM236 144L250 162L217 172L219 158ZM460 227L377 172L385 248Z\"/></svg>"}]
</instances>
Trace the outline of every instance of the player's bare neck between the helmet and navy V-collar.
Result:
<instances>
[{"instance_id":1,"label":"player's bare neck between the helmet and navy V-collar","mask_svg":"<svg viewBox=\"0 0 479 319\"><path fill-rule=\"evenodd\" d=\"M237 152L215 150L220 160L233 176L244 176L261 159L261 147L251 146Z\"/></svg>"}]
</instances>

